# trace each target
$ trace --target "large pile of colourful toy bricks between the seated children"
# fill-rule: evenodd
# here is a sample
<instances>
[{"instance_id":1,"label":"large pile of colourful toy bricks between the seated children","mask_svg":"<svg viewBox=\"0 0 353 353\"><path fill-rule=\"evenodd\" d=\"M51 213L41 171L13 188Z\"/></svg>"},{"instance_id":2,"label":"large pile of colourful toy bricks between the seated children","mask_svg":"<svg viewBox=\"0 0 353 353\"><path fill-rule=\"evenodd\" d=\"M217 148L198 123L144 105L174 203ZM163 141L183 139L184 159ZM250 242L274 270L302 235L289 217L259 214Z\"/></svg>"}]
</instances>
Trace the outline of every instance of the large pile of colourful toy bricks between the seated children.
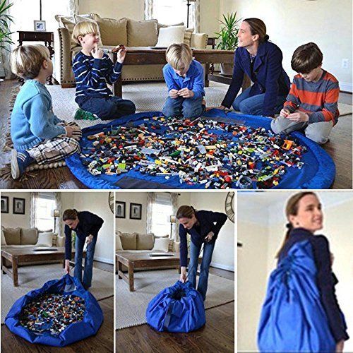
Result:
<instances>
[{"instance_id":1,"label":"large pile of colourful toy bricks between the seated children","mask_svg":"<svg viewBox=\"0 0 353 353\"><path fill-rule=\"evenodd\" d=\"M111 126L88 140L92 145L80 157L93 175L134 169L205 189L269 189L286 167L301 169L306 152L293 138L265 128L163 116L138 126Z\"/></svg>"}]
</instances>

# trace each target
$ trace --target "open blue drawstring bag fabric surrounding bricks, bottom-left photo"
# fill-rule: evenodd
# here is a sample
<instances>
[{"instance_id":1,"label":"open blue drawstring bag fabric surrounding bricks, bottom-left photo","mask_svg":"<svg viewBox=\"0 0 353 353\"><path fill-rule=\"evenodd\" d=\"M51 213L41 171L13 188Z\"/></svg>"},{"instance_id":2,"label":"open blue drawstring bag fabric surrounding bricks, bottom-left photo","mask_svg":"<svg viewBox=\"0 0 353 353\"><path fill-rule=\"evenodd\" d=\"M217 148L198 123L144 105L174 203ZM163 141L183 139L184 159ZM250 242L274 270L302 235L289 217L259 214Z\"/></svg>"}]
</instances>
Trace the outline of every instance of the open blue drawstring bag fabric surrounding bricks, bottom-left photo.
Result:
<instances>
[{"instance_id":1,"label":"open blue drawstring bag fabric surrounding bricks, bottom-left photo","mask_svg":"<svg viewBox=\"0 0 353 353\"><path fill-rule=\"evenodd\" d=\"M56 335L48 331L38 334L20 325L20 315L23 308L33 301L33 299L41 297L43 294L63 294L64 296L72 295L82 298L85 301L83 321L71 323L61 333ZM40 343L42 345L56 347L64 347L73 342L95 335L100 325L102 325L102 322L103 312L95 297L83 288L77 278L71 277L70 275L64 275L60 280L48 281L44 283L42 288L32 290L23 297L20 297L20 299L13 304L5 318L5 323L12 333L23 337L31 343Z\"/></svg>"}]
</instances>

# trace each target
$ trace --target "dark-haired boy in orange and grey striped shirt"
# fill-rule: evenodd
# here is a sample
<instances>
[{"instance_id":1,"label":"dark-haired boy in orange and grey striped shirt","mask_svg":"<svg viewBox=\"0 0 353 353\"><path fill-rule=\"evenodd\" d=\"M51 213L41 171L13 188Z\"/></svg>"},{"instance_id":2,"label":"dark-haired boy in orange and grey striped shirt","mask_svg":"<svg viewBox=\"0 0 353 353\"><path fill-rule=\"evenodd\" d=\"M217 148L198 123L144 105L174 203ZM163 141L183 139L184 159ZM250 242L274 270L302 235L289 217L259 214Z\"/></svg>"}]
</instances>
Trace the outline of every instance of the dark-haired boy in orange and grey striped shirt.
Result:
<instances>
[{"instance_id":1,"label":"dark-haired boy in orange and grey striped shirt","mask_svg":"<svg viewBox=\"0 0 353 353\"><path fill-rule=\"evenodd\" d=\"M298 47L292 57L294 76L287 101L277 119L271 121L275 133L305 129L307 138L323 144L337 124L340 88L335 76L323 70L323 53L315 43Z\"/></svg>"}]
</instances>

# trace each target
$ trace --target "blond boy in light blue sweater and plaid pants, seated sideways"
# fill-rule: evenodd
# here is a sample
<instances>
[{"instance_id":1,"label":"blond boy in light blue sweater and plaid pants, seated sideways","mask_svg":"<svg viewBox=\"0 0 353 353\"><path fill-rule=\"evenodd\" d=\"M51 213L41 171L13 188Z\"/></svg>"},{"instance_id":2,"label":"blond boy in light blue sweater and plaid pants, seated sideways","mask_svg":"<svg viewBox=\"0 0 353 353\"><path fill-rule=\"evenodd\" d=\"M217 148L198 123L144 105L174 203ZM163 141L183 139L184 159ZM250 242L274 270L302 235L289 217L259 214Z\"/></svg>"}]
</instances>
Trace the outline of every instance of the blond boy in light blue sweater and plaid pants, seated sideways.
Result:
<instances>
[{"instance_id":1,"label":"blond boy in light blue sweater and plaid pants, seated sideways","mask_svg":"<svg viewBox=\"0 0 353 353\"><path fill-rule=\"evenodd\" d=\"M18 179L32 162L47 164L80 151L82 133L75 123L59 119L45 81L53 73L49 50L24 45L11 54L13 73L25 79L11 114L11 175Z\"/></svg>"}]
</instances>

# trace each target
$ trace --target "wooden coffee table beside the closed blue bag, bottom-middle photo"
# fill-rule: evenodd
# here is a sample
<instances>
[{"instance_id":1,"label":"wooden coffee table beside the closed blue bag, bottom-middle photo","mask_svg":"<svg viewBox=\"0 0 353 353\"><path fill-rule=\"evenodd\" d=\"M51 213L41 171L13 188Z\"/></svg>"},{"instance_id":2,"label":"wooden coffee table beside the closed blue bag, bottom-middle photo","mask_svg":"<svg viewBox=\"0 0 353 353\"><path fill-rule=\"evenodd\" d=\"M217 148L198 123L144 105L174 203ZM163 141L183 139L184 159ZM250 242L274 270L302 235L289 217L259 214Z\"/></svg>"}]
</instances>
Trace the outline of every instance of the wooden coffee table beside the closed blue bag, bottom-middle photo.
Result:
<instances>
[{"instance_id":1,"label":"wooden coffee table beside the closed blue bag, bottom-middle photo","mask_svg":"<svg viewBox=\"0 0 353 353\"><path fill-rule=\"evenodd\" d=\"M189 263L188 258L188 263ZM202 258L198 259L201 263ZM116 269L118 278L124 280L128 284L130 292L134 292L133 285L133 270L144 268L156 268L164 266L174 266L180 273L180 258L178 253L173 253L173 256L149 256L148 253L116 253ZM128 268L128 275L123 273L122 265Z\"/></svg>"}]
</instances>

